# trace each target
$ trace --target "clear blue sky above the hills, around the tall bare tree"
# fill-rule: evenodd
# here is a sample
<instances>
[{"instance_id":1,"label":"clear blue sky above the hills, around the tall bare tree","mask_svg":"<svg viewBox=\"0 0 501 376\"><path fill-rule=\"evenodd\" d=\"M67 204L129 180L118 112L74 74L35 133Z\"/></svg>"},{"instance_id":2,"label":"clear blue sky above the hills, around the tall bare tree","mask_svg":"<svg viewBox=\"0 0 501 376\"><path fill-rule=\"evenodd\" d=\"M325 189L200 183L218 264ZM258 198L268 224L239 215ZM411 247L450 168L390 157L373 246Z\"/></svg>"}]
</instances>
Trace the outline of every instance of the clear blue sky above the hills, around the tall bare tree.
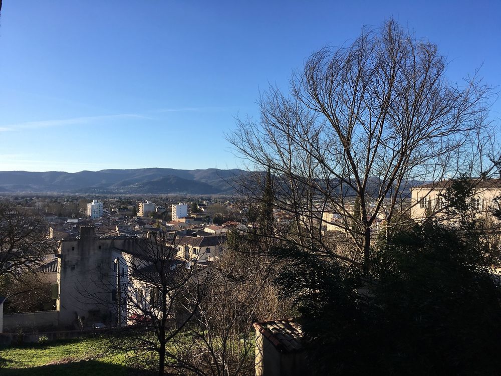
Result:
<instances>
[{"instance_id":1,"label":"clear blue sky above the hills, around the tall bare tree","mask_svg":"<svg viewBox=\"0 0 501 376\"><path fill-rule=\"evenodd\" d=\"M393 17L501 85L501 2L4 0L0 170L233 168L235 116ZM499 100L491 118L501 117Z\"/></svg>"}]
</instances>

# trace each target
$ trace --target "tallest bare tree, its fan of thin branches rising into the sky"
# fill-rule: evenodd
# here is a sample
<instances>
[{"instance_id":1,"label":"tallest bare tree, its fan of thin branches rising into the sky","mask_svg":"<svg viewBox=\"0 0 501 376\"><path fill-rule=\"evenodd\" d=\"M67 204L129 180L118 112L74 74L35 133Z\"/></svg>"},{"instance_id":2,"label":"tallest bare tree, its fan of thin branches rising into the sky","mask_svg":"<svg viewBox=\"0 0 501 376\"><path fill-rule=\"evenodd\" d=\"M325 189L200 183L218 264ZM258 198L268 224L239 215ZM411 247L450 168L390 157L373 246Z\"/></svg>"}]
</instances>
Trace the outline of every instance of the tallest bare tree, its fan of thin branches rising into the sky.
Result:
<instances>
[{"instance_id":1,"label":"tallest bare tree, its fan of thin branches rising into the sky","mask_svg":"<svg viewBox=\"0 0 501 376\"><path fill-rule=\"evenodd\" d=\"M474 173L479 144L496 159L483 139L491 89L476 77L458 87L446 66L434 44L389 20L347 47L314 53L290 94L271 87L260 122L238 120L229 141L250 169L275 176L274 209L290 226L273 237L368 272L377 223L391 226L409 211L412 184ZM260 201L263 173L257 182L242 192ZM326 225L349 246L336 248Z\"/></svg>"}]
</instances>

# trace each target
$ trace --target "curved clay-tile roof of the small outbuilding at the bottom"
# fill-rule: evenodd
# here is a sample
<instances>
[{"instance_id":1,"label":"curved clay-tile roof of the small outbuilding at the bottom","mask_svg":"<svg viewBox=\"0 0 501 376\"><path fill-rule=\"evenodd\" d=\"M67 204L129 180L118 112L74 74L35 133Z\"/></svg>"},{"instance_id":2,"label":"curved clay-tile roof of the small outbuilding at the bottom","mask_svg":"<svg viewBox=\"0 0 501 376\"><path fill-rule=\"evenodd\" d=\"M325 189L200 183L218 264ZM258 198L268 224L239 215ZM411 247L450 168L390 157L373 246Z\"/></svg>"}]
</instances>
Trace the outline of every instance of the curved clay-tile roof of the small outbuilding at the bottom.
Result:
<instances>
[{"instance_id":1,"label":"curved clay-tile roof of the small outbuilding at the bottom","mask_svg":"<svg viewBox=\"0 0 501 376\"><path fill-rule=\"evenodd\" d=\"M280 352L300 351L303 348L303 329L294 319L256 322L254 327Z\"/></svg>"}]
</instances>

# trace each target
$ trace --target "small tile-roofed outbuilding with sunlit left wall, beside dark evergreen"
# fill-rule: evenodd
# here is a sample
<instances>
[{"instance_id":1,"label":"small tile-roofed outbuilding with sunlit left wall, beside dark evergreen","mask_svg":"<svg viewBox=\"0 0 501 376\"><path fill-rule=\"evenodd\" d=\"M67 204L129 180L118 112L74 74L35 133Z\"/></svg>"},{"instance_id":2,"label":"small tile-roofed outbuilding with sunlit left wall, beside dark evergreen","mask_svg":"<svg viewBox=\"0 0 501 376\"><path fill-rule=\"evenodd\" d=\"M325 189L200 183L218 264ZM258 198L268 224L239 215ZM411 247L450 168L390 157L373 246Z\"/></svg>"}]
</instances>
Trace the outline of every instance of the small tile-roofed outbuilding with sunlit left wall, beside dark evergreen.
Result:
<instances>
[{"instance_id":1,"label":"small tile-roofed outbuilding with sunlit left wall, beside dark evergreen","mask_svg":"<svg viewBox=\"0 0 501 376\"><path fill-rule=\"evenodd\" d=\"M303 330L294 319L256 322L256 376L308 376Z\"/></svg>"}]
</instances>

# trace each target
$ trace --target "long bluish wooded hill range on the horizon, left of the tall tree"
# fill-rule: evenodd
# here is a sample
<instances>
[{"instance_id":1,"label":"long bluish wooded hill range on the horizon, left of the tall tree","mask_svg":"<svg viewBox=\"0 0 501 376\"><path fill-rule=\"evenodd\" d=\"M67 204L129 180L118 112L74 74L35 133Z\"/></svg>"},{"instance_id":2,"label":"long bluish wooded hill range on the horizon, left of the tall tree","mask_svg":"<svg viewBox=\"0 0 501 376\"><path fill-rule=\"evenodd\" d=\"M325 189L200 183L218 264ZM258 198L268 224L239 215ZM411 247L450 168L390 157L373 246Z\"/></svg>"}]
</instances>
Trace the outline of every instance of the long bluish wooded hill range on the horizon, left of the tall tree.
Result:
<instances>
[{"instance_id":1,"label":"long bluish wooded hill range on the horizon, left of the tall tree","mask_svg":"<svg viewBox=\"0 0 501 376\"><path fill-rule=\"evenodd\" d=\"M72 194L190 194L215 195L233 192L232 182L247 172L217 168L107 169L80 172L0 171L0 192Z\"/></svg>"}]
</instances>

